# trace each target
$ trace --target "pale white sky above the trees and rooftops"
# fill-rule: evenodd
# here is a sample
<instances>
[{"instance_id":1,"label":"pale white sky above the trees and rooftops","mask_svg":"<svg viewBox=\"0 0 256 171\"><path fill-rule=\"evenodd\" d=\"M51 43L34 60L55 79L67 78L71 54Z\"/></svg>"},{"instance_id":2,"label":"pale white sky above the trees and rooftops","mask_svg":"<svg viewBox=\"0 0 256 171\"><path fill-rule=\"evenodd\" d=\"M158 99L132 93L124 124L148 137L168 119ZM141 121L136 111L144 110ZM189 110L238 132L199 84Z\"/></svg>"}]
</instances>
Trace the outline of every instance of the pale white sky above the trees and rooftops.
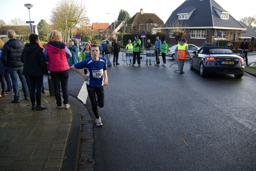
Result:
<instances>
[{"instance_id":1,"label":"pale white sky above the trees and rooftops","mask_svg":"<svg viewBox=\"0 0 256 171\"><path fill-rule=\"evenodd\" d=\"M50 23L50 10L58 3L58 0L1 0L0 19L8 23L14 18L22 18L24 21L29 21L28 8L24 4L33 4L30 9L31 21L34 24L38 24L41 19ZM172 14L172 12L178 8L185 0L165 0L158 1L145 1L145 0L83 0L82 2L87 7L87 16L90 19L90 23L105 22L112 23L118 18L119 11L121 9L126 10L130 16L134 16L136 12L140 12L140 8L144 13L155 13L161 18L164 23ZM114 2L114 3L111 3ZM136 3L135 3L136 2ZM165 2L165 4L163 4ZM215 0L224 10L230 12L236 20L240 20L243 17L254 16L256 17L256 6L254 0ZM163 10L165 8L165 10ZM106 14L113 13L113 14ZM202 14L203 15L203 14ZM200 19L198 19L200 22Z\"/></svg>"}]
</instances>

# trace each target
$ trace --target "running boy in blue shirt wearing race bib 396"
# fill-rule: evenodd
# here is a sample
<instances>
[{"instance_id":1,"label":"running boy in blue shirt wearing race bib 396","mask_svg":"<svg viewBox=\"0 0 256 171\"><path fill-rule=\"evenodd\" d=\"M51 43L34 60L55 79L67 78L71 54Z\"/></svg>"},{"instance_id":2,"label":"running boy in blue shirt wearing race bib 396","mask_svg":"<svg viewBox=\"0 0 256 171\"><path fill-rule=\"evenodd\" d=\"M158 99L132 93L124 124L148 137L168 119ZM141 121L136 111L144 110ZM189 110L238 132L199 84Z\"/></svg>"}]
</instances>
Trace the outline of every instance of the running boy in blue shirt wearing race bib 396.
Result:
<instances>
[{"instance_id":1,"label":"running boy in blue shirt wearing race bib 396","mask_svg":"<svg viewBox=\"0 0 256 171\"><path fill-rule=\"evenodd\" d=\"M97 104L99 107L104 107L104 88L103 85L108 85L108 76L106 70L106 58L99 57L100 48L94 44L91 46L92 58L83 60L74 64L71 68L80 74L84 81L88 96L92 104L92 111L96 117L95 122L97 126L102 125L101 118L98 114ZM88 76L79 69L86 68L90 73Z\"/></svg>"}]
</instances>

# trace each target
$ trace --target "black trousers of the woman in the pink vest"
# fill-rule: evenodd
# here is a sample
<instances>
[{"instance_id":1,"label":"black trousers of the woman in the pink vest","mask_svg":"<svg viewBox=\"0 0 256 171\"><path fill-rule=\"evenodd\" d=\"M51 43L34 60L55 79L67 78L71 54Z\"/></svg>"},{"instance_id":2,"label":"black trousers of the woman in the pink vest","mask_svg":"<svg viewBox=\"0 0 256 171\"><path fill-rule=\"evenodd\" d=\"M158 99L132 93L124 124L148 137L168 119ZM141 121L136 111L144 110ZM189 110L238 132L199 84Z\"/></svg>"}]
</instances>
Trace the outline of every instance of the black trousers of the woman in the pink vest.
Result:
<instances>
[{"instance_id":1,"label":"black trousers of the woman in the pink vest","mask_svg":"<svg viewBox=\"0 0 256 171\"><path fill-rule=\"evenodd\" d=\"M58 106L61 106L61 96L60 96L60 86L62 89L62 94L63 94L63 103L68 104L68 70L65 71L58 71L58 72L52 72L51 71L51 78L52 78L52 83L54 87L54 96L56 99L56 104ZM61 85L60 85L61 84Z\"/></svg>"}]
</instances>

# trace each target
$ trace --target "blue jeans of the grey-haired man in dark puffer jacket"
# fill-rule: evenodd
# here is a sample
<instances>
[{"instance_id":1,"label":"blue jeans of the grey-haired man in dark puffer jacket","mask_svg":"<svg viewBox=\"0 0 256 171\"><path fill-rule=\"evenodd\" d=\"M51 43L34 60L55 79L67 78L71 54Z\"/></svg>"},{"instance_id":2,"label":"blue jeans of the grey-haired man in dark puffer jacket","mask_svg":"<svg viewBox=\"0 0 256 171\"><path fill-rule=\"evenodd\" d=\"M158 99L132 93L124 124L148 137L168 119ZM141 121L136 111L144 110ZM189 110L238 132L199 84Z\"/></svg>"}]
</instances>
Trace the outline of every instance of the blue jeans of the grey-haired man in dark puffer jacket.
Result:
<instances>
[{"instance_id":1,"label":"blue jeans of the grey-haired man in dark puffer jacket","mask_svg":"<svg viewBox=\"0 0 256 171\"><path fill-rule=\"evenodd\" d=\"M10 74L10 77L11 77L11 80L12 80L12 89L13 89L13 92L14 92L14 100L19 100L20 99L20 92L19 92L17 74L20 78L20 82L21 82L21 85L22 85L22 90L23 90L23 93L24 93L24 97L27 98L28 97L28 85L26 83L25 77L22 75L23 67L20 67L20 68L9 67L8 70L9 70L9 74Z\"/></svg>"}]
</instances>

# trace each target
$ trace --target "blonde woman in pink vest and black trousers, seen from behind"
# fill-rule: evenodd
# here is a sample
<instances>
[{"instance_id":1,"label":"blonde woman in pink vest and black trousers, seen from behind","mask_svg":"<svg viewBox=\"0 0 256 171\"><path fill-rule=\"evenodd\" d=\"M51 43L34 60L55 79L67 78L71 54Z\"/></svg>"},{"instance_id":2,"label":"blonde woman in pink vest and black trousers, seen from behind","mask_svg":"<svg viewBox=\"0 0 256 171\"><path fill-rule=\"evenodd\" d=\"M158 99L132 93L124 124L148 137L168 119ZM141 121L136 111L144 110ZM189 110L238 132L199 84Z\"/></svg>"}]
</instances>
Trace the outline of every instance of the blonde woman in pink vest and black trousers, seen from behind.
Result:
<instances>
[{"instance_id":1,"label":"blonde woman in pink vest and black trousers, seen from behind","mask_svg":"<svg viewBox=\"0 0 256 171\"><path fill-rule=\"evenodd\" d=\"M48 70L52 78L54 86L54 95L58 109L62 108L62 101L60 96L60 84L63 94L63 104L66 109L70 107L68 104L68 61L72 55L66 44L61 42L61 33L54 30L48 34L48 43L45 45L44 58L48 62Z\"/></svg>"}]
</instances>

